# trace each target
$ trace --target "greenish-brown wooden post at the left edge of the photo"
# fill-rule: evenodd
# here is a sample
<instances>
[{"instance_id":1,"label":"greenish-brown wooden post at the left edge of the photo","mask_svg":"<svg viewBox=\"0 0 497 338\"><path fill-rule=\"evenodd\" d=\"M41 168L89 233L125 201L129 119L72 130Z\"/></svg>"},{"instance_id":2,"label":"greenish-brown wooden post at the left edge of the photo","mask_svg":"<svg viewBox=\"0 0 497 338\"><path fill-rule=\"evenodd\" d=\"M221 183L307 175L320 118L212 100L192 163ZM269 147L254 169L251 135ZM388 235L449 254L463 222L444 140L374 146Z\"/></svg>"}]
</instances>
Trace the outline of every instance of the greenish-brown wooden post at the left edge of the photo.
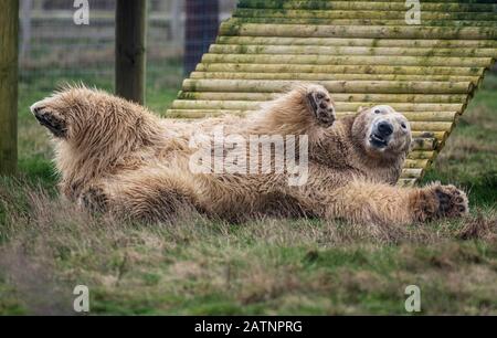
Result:
<instances>
[{"instance_id":1,"label":"greenish-brown wooden post at the left edge of the photo","mask_svg":"<svg viewBox=\"0 0 497 338\"><path fill-rule=\"evenodd\" d=\"M19 0L0 1L0 175L18 166Z\"/></svg>"}]
</instances>

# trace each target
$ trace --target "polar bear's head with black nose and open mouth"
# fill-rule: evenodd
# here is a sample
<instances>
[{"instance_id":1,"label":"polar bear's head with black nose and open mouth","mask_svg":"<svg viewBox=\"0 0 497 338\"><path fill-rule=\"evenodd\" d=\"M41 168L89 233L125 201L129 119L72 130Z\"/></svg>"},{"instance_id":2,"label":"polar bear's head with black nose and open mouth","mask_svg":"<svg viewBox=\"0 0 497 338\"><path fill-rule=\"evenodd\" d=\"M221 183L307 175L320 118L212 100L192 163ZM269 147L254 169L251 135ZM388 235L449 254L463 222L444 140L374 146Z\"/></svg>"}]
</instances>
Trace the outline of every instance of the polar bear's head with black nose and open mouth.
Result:
<instances>
[{"instance_id":1,"label":"polar bear's head with black nose and open mouth","mask_svg":"<svg viewBox=\"0 0 497 338\"><path fill-rule=\"evenodd\" d=\"M412 142L409 120L387 105L361 109L352 124L352 137L366 156L385 160L406 156Z\"/></svg>"}]
</instances>

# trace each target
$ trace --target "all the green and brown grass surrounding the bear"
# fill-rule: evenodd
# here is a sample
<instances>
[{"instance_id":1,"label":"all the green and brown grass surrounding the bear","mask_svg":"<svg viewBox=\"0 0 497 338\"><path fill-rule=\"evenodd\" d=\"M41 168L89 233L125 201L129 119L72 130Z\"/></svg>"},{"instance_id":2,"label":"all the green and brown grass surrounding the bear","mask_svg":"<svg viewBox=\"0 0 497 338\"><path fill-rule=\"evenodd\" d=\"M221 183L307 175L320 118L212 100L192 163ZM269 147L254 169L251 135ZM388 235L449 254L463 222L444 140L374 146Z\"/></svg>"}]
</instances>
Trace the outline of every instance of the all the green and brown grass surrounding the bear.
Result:
<instances>
[{"instance_id":1,"label":"all the green and brown grass surrounding the bear","mask_svg":"<svg viewBox=\"0 0 497 338\"><path fill-rule=\"evenodd\" d=\"M165 85L149 88L156 110L176 94ZM412 284L422 314L497 314L497 77L424 179L465 187L472 214L406 228L82 213L59 197L47 137L28 112L52 88L21 84L21 173L0 179L0 314L73 314L78 284L94 315L403 315Z\"/></svg>"}]
</instances>

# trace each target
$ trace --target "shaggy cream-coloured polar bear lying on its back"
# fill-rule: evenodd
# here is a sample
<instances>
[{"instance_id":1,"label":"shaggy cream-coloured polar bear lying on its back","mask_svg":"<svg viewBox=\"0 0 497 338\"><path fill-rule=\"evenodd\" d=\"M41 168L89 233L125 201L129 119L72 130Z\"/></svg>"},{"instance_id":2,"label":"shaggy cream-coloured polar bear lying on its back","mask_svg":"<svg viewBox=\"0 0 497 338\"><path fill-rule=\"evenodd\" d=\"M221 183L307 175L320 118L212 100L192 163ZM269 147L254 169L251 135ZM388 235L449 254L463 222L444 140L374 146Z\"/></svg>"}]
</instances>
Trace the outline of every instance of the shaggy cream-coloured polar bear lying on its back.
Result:
<instances>
[{"instance_id":1,"label":"shaggy cream-coloured polar bear lying on its back","mask_svg":"<svg viewBox=\"0 0 497 338\"><path fill-rule=\"evenodd\" d=\"M190 204L230 220L269 213L404 224L461 216L468 209L465 193L453 186L393 186L411 144L405 117L376 106L336 122L334 103L318 85L300 85L246 118L173 122L84 87L55 93L31 110L53 135L62 192L92 210L160 221ZM273 157L267 163L256 152L255 172L192 170L199 133L209 135L203 141L213 145L208 155L214 162L255 159L251 142L216 148L220 126L237 139L258 137L257 149L290 139L298 160L288 166L285 152L287 166L277 170ZM287 151L288 144L281 149ZM305 180L292 184L296 168L305 169Z\"/></svg>"}]
</instances>

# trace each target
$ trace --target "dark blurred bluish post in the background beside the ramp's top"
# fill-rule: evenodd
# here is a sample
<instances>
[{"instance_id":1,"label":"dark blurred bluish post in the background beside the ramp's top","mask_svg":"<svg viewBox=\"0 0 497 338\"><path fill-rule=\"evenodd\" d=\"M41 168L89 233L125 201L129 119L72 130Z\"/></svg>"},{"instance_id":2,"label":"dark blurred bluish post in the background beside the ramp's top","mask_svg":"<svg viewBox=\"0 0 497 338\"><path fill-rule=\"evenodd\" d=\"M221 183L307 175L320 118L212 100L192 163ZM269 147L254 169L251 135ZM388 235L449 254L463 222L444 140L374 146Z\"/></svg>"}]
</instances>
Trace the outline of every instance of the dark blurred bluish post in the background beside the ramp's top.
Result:
<instances>
[{"instance_id":1,"label":"dark blurred bluish post in the background beside the ramp's top","mask_svg":"<svg viewBox=\"0 0 497 338\"><path fill-rule=\"evenodd\" d=\"M184 74L189 75L219 31L219 0L187 0Z\"/></svg>"}]
</instances>

